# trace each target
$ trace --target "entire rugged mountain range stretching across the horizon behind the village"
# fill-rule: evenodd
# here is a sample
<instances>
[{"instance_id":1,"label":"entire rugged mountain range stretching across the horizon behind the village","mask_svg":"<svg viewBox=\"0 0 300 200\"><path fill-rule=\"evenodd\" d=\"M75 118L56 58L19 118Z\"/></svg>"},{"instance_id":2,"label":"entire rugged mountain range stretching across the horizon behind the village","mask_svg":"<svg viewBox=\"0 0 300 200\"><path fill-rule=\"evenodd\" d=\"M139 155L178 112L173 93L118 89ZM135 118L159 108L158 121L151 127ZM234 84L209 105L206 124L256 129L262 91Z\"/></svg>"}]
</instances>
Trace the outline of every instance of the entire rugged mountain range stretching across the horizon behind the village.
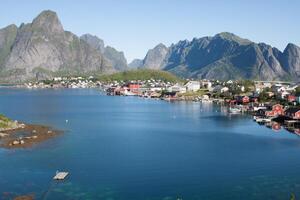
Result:
<instances>
[{"instance_id":1,"label":"entire rugged mountain range stretching across the horizon behind the village","mask_svg":"<svg viewBox=\"0 0 300 200\"><path fill-rule=\"evenodd\" d=\"M0 82L47 79L57 75L107 74L132 68L169 71L184 78L300 80L300 48L284 51L232 33L158 44L144 59L127 64L123 52L97 36L65 31L46 10L31 23L0 29Z\"/></svg>"}]
</instances>

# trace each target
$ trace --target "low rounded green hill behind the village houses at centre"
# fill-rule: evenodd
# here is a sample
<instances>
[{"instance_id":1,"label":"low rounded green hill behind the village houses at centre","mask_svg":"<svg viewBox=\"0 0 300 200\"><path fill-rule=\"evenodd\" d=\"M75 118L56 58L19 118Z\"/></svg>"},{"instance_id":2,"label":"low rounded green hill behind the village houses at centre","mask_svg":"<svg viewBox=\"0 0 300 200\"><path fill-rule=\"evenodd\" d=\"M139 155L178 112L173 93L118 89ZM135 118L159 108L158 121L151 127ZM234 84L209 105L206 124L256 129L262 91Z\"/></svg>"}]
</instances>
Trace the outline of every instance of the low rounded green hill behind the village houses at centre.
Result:
<instances>
[{"instance_id":1,"label":"low rounded green hill behind the village houses at centre","mask_svg":"<svg viewBox=\"0 0 300 200\"><path fill-rule=\"evenodd\" d=\"M100 75L97 77L100 81L129 81L129 80L162 80L166 82L182 82L182 80L175 75L151 69L138 69L125 72L118 72L111 75Z\"/></svg>"}]
</instances>

